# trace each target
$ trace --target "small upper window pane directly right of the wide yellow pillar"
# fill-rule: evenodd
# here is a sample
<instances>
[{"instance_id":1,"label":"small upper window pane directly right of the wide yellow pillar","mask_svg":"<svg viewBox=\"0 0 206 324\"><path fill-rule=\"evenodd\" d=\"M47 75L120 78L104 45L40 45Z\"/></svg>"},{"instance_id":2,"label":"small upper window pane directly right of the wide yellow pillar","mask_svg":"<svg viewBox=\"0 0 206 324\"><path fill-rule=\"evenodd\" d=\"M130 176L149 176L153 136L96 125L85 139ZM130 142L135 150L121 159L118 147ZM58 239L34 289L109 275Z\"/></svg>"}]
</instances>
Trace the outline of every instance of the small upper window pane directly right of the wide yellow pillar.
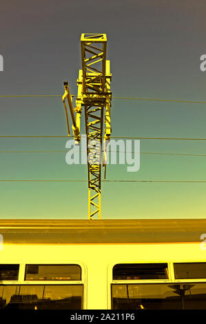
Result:
<instances>
[{"instance_id":1,"label":"small upper window pane directly right of the wide yellow pillar","mask_svg":"<svg viewBox=\"0 0 206 324\"><path fill-rule=\"evenodd\" d=\"M114 280L168 279L167 263L127 263L113 267Z\"/></svg>"}]
</instances>

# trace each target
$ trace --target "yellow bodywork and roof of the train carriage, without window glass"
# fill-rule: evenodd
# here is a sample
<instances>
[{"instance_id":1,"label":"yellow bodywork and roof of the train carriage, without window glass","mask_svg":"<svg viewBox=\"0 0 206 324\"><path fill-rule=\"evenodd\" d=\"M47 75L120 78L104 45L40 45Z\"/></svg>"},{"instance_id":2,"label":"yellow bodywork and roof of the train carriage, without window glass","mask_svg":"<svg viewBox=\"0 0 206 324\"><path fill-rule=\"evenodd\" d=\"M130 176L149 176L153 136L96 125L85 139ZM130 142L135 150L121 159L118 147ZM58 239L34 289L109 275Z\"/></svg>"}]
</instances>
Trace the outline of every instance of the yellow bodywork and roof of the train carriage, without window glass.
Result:
<instances>
[{"instance_id":1,"label":"yellow bodywork and roof of the train carriage, without window glass","mask_svg":"<svg viewBox=\"0 0 206 324\"><path fill-rule=\"evenodd\" d=\"M113 267L119 263L169 263L169 279L165 283L206 281L175 279L172 265L205 262L203 242L199 239L199 233L206 227L205 219L116 219L94 220L92 224L80 219L1 219L0 225L4 239L1 264L20 265L19 279L1 281L1 285L39 285L38 281L25 281L25 264L79 264L81 281L44 281L44 284L82 283L85 309L110 309L113 283L148 283L148 279L114 281ZM150 280L155 284L161 282L162 279Z\"/></svg>"}]
</instances>

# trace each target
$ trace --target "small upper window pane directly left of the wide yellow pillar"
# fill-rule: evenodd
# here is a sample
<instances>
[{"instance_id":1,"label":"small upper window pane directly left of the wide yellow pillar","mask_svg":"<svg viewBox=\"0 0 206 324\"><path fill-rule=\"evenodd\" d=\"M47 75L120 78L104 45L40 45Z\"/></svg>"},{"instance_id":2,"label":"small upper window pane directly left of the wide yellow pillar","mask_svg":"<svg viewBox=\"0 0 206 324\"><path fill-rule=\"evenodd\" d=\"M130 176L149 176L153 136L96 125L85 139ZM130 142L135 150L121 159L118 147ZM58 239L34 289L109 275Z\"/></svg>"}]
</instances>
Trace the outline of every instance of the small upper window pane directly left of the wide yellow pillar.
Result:
<instances>
[{"instance_id":1,"label":"small upper window pane directly left of the wide yellow pillar","mask_svg":"<svg viewBox=\"0 0 206 324\"><path fill-rule=\"evenodd\" d=\"M26 265L25 280L79 281L81 267L79 265Z\"/></svg>"}]
</instances>

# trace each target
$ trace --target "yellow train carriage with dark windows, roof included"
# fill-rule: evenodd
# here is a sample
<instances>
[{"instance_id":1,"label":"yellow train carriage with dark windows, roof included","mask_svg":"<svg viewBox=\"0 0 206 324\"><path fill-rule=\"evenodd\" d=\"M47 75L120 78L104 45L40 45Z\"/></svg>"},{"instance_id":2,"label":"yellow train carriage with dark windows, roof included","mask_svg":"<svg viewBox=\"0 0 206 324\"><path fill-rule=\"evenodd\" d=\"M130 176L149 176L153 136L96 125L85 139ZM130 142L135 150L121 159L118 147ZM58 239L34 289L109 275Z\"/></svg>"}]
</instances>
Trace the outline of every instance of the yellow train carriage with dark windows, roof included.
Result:
<instances>
[{"instance_id":1,"label":"yellow train carriage with dark windows, roof included","mask_svg":"<svg viewBox=\"0 0 206 324\"><path fill-rule=\"evenodd\" d=\"M204 232L204 219L1 220L0 308L206 309Z\"/></svg>"}]
</instances>

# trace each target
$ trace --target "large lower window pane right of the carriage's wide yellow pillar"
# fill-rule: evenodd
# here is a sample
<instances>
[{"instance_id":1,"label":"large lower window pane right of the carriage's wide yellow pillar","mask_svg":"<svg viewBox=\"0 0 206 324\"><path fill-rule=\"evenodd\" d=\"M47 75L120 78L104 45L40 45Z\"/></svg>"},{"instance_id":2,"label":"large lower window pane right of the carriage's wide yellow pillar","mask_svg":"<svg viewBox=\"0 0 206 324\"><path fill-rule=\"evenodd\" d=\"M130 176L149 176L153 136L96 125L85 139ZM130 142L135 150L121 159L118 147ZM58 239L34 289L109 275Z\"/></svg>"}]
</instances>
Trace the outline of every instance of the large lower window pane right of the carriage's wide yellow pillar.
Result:
<instances>
[{"instance_id":1,"label":"large lower window pane right of the carriage's wide yellow pillar","mask_svg":"<svg viewBox=\"0 0 206 324\"><path fill-rule=\"evenodd\" d=\"M113 310L206 310L206 283L112 285Z\"/></svg>"}]
</instances>

